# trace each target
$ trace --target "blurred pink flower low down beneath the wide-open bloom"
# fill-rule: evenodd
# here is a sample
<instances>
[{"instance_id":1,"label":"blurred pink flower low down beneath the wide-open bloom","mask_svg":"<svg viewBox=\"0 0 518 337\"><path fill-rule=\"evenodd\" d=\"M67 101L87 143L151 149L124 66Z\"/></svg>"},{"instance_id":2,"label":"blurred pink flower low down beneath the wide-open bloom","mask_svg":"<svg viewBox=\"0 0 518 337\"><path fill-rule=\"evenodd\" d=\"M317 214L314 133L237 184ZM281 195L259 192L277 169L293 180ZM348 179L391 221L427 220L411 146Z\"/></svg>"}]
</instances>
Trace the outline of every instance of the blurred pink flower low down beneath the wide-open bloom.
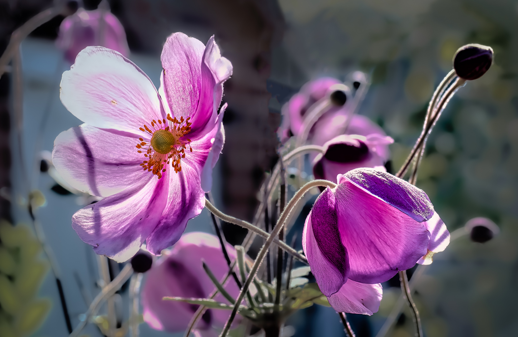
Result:
<instances>
[{"instance_id":1,"label":"blurred pink flower low down beneath the wide-open bloom","mask_svg":"<svg viewBox=\"0 0 518 337\"><path fill-rule=\"evenodd\" d=\"M235 259L234 247L227 244L226 248L229 257ZM218 238L208 233L186 233L170 251L164 251L162 255L163 257L155 262L147 273L142 290L143 317L153 329L168 332L184 331L198 305L166 301L162 298L207 298L215 287L203 269L202 259L218 280L224 277L228 266ZM232 277L224 287L232 297L238 296L239 288ZM227 303L221 294L214 299ZM212 326L224 326L230 313L229 310L209 309L200 319L198 329L209 330L205 331L205 334L210 334Z\"/></svg>"}]
</instances>

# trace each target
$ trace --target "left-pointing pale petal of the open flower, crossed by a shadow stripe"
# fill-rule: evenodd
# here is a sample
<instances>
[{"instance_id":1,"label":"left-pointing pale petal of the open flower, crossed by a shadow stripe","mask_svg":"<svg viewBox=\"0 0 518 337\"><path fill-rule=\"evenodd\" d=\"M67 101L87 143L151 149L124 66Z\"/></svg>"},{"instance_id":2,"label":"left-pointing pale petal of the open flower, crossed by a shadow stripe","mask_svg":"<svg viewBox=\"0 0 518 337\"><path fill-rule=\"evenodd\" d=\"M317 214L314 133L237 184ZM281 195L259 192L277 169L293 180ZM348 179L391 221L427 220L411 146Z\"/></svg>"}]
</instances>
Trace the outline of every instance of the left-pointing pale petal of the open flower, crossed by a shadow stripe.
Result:
<instances>
[{"instance_id":1,"label":"left-pointing pale petal of the open flower, crossed by a shadow stripe","mask_svg":"<svg viewBox=\"0 0 518 337\"><path fill-rule=\"evenodd\" d=\"M137 153L135 144L135 138L82 124L56 137L52 163L72 187L107 197L148 174L142 172L142 154Z\"/></svg>"}]
</instances>

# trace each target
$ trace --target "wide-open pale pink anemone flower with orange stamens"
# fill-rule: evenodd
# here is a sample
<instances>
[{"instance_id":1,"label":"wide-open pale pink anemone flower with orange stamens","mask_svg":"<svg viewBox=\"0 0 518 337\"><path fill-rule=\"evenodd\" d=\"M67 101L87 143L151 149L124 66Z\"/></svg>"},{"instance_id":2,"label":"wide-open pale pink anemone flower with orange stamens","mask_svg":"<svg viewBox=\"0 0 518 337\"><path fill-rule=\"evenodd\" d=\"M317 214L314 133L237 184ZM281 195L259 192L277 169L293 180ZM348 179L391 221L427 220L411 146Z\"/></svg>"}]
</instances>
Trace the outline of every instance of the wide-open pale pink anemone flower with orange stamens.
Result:
<instances>
[{"instance_id":1,"label":"wide-open pale pink anemone flower with orange stamens","mask_svg":"<svg viewBox=\"0 0 518 337\"><path fill-rule=\"evenodd\" d=\"M105 197L79 210L72 225L97 254L117 261L146 241L160 252L178 241L205 205L223 147L218 114L232 65L211 37L167 38L157 91L120 53L88 47L61 81L63 105L84 124L54 141L52 161L65 181Z\"/></svg>"}]
</instances>

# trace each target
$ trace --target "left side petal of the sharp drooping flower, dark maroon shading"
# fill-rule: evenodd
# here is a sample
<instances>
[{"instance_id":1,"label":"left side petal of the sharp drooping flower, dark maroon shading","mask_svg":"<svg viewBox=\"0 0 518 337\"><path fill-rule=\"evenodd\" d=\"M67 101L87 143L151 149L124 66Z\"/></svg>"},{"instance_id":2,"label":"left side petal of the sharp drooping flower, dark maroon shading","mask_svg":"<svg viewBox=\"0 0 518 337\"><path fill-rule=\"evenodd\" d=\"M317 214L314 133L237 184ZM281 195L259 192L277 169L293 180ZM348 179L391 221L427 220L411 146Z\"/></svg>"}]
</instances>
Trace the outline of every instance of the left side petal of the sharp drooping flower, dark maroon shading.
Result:
<instances>
[{"instance_id":1,"label":"left side petal of the sharp drooping flower, dark maroon shading","mask_svg":"<svg viewBox=\"0 0 518 337\"><path fill-rule=\"evenodd\" d=\"M334 294L347 280L348 254L337 224L335 196L327 187L306 218L302 238L311 272L325 296Z\"/></svg>"}]
</instances>

